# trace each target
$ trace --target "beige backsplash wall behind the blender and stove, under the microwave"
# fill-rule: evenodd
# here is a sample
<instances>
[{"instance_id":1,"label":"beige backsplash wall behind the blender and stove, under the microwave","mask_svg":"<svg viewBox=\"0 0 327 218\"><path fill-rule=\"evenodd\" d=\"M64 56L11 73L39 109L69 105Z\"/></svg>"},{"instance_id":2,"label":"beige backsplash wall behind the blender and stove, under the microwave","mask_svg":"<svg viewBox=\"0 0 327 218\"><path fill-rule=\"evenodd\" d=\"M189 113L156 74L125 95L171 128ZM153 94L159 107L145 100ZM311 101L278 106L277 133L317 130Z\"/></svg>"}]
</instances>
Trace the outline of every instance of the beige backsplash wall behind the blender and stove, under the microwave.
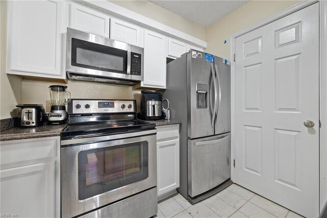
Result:
<instances>
[{"instance_id":1,"label":"beige backsplash wall behind the blender and stove, under the microwave","mask_svg":"<svg viewBox=\"0 0 327 218\"><path fill-rule=\"evenodd\" d=\"M128 85L112 85L105 83L68 80L68 84L43 81L22 81L21 104L43 104L50 100L50 85L66 85L72 99L135 99L137 111L140 110L141 91L133 90Z\"/></svg>"}]
</instances>

